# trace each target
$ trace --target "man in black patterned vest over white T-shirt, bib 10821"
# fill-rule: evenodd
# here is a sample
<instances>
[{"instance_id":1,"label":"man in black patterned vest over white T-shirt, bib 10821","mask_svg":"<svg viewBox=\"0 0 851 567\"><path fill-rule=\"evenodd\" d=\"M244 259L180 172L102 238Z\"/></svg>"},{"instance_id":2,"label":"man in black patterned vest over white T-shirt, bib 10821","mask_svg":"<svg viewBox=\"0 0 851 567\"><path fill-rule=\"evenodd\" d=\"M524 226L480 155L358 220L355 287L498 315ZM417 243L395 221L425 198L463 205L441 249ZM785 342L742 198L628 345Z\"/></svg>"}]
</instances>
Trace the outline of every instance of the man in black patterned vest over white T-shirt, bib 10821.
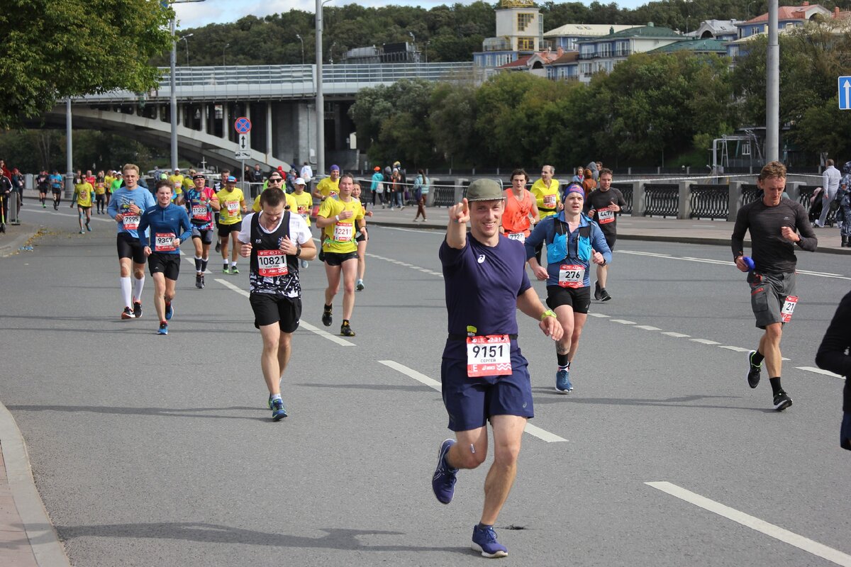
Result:
<instances>
[{"instance_id":1,"label":"man in black patterned vest over white T-shirt, bib 10821","mask_svg":"<svg viewBox=\"0 0 851 567\"><path fill-rule=\"evenodd\" d=\"M280 177L280 173L272 175ZM240 254L251 258L248 281L254 326L263 338L260 368L269 389L269 409L276 422L287 417L281 380L289 362L293 332L301 318L299 258L316 257L311 231L300 215L284 209L280 186L260 193L260 213L245 218L239 233Z\"/></svg>"}]
</instances>

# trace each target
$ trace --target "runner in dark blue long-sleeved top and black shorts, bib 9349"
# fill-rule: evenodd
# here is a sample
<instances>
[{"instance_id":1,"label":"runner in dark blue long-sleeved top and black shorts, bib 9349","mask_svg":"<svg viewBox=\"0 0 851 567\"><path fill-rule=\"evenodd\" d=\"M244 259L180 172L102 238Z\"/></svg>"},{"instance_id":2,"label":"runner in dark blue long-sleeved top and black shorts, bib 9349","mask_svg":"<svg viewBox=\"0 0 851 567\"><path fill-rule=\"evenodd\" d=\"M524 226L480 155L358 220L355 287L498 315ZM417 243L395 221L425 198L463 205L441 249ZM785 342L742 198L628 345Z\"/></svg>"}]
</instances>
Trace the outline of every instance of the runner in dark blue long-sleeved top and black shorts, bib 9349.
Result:
<instances>
[{"instance_id":1,"label":"runner in dark blue long-sleeved top and black shorts, bib 9349","mask_svg":"<svg viewBox=\"0 0 851 567\"><path fill-rule=\"evenodd\" d=\"M175 205L168 179L157 181L157 204L146 209L139 221L139 241L148 258L154 280L154 308L159 317L160 335L168 335L168 321L174 315L175 288L180 275L180 244L192 235L186 209ZM151 227L150 239L147 235Z\"/></svg>"}]
</instances>

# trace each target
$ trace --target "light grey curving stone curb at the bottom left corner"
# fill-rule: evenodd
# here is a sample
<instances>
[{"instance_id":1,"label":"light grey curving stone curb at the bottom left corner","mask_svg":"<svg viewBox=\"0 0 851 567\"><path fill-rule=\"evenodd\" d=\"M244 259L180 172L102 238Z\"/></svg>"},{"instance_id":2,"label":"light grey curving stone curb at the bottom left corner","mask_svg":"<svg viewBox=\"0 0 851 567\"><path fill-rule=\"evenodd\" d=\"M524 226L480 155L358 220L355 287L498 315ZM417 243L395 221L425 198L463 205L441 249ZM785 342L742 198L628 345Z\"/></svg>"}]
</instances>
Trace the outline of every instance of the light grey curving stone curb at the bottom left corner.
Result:
<instances>
[{"instance_id":1,"label":"light grey curving stone curb at the bottom left corner","mask_svg":"<svg viewBox=\"0 0 851 567\"><path fill-rule=\"evenodd\" d=\"M24 437L20 434L12 412L3 403L0 403L0 439L3 439L0 450L3 451L3 461L6 463L9 491L24 524L26 539L30 542L36 563L39 567L71 567L65 547L56 535L42 497L38 494L35 479L32 478Z\"/></svg>"}]
</instances>

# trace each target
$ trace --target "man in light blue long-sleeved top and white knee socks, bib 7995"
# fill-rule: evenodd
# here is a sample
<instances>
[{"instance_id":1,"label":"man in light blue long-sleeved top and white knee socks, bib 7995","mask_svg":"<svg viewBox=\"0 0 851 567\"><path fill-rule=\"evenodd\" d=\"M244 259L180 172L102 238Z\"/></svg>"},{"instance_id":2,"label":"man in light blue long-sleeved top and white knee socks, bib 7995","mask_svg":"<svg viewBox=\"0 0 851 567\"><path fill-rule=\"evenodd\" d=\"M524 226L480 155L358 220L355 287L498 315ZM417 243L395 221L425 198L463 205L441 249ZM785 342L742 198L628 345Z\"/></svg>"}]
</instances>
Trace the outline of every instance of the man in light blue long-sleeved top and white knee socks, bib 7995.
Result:
<instances>
[{"instance_id":1,"label":"man in light blue long-sleeved top and white knee socks, bib 7995","mask_svg":"<svg viewBox=\"0 0 851 567\"><path fill-rule=\"evenodd\" d=\"M122 183L112 192L112 200L106 212L117 223L118 265L121 269L121 298L124 303L122 319L138 319L142 316L142 289L145 287L145 264L147 257L139 241L139 221L142 213L157 204L151 191L139 184L139 166L128 163L123 167L115 183ZM134 276L133 292L130 292L131 260Z\"/></svg>"}]
</instances>

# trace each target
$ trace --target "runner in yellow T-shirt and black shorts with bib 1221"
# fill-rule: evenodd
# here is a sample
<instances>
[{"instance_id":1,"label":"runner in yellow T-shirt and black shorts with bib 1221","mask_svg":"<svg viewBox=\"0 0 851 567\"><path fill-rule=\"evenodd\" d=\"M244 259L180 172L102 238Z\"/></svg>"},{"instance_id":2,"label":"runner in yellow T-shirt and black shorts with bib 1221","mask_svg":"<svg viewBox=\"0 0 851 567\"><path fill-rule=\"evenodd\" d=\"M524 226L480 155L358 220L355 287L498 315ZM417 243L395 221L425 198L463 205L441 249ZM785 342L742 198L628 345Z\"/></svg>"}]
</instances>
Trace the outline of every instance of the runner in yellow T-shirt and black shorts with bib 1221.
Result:
<instances>
[{"instance_id":1,"label":"runner in yellow T-shirt and black shorts with bib 1221","mask_svg":"<svg viewBox=\"0 0 851 567\"><path fill-rule=\"evenodd\" d=\"M355 309L355 276L357 275L356 232L366 237L366 221L363 220L361 201L351 197L355 180L346 173L340 177L340 195L336 199L325 199L317 213L317 227L323 229L323 252L325 275L325 309L322 314L324 326L331 326L331 310L334 296L340 291L340 274L343 276L343 325L340 335L354 337L351 330L351 312Z\"/></svg>"}]
</instances>

